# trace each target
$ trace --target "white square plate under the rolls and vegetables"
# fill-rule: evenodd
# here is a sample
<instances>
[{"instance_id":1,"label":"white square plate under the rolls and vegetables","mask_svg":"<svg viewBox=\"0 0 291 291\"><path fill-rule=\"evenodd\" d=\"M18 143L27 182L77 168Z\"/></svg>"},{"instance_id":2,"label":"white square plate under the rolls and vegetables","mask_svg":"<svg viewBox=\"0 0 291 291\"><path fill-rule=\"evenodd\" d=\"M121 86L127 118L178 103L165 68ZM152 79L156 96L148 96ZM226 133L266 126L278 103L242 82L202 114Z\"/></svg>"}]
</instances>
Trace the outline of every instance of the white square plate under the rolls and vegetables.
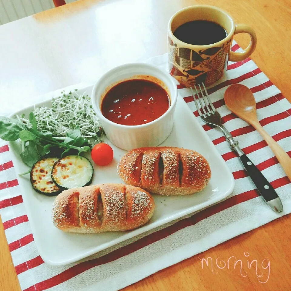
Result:
<instances>
[{"instance_id":1,"label":"white square plate under the rolls and vegetables","mask_svg":"<svg viewBox=\"0 0 291 291\"><path fill-rule=\"evenodd\" d=\"M91 94L92 88L93 86L78 88L78 93ZM36 106L42 105L51 106L51 100L36 104ZM15 114L25 113L28 116L29 112L33 110L34 105L15 112ZM94 166L92 184L122 183L117 175L116 166L125 151L113 146L110 142L108 143L113 148L114 160L105 167L96 166L91 160ZM9 146L16 172L27 171L28 168L23 164L19 155L21 144L18 141L9 142ZM212 172L211 179L203 191L193 195L169 197L154 195L156 202L154 215L146 225L132 231L99 234L62 232L53 225L51 219L51 209L55 197L47 197L35 192L30 184L29 175L18 177L32 234L42 259L51 265L65 265L75 262L142 232L219 202L232 192L234 188L232 173L194 114L179 95L175 109L174 128L161 146L183 147L201 153L209 162Z\"/></svg>"}]
</instances>

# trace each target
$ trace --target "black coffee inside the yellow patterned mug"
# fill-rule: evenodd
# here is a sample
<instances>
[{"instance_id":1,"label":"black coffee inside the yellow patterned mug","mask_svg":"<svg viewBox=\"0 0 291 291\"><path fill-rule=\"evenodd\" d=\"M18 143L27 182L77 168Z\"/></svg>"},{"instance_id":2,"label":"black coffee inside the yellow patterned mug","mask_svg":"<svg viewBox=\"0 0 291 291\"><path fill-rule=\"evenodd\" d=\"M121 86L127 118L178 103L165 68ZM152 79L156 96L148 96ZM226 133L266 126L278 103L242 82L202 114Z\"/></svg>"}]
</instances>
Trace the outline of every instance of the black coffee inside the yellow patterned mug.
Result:
<instances>
[{"instance_id":1,"label":"black coffee inside the yellow patterned mug","mask_svg":"<svg viewBox=\"0 0 291 291\"><path fill-rule=\"evenodd\" d=\"M180 25L174 32L176 38L190 45L211 45L227 36L219 24L207 20L194 20Z\"/></svg>"}]
</instances>

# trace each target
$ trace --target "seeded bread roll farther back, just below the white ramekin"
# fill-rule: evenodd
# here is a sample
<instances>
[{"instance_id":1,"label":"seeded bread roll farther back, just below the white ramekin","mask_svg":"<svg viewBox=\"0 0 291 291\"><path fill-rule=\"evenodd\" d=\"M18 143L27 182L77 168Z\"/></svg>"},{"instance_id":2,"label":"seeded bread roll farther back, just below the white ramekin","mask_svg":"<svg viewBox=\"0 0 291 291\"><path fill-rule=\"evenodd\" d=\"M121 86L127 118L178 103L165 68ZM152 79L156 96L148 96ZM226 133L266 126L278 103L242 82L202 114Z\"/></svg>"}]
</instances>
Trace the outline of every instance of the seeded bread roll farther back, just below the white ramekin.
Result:
<instances>
[{"instance_id":1,"label":"seeded bread roll farther back, just below the white ramekin","mask_svg":"<svg viewBox=\"0 0 291 291\"><path fill-rule=\"evenodd\" d=\"M210 180L207 160L198 152L176 147L147 147L127 152L117 165L125 184L161 195L189 195Z\"/></svg>"}]
</instances>

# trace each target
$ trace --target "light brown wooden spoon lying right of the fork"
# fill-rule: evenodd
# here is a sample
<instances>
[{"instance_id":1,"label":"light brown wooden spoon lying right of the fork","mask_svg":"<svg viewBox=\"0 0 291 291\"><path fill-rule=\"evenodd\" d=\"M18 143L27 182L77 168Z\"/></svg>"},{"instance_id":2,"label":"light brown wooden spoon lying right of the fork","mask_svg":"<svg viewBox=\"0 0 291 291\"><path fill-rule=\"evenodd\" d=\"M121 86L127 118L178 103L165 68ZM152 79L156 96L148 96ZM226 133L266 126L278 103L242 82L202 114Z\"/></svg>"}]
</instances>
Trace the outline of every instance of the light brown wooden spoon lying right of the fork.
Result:
<instances>
[{"instance_id":1,"label":"light brown wooden spoon lying right of the fork","mask_svg":"<svg viewBox=\"0 0 291 291\"><path fill-rule=\"evenodd\" d=\"M256 115L256 100L252 91L244 85L234 84L226 89L224 100L229 110L253 125L263 136L291 181L291 158L260 125Z\"/></svg>"}]
</instances>

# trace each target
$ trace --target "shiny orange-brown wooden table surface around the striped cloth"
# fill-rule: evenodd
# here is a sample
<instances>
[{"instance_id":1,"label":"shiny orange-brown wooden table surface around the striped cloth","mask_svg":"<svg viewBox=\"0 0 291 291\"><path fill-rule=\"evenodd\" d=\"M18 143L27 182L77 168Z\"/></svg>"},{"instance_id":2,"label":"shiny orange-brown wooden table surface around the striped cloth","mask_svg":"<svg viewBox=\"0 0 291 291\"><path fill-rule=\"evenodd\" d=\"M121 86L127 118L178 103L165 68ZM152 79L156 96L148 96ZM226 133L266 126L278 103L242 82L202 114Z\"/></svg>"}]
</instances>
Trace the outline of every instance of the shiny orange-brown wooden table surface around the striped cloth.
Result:
<instances>
[{"instance_id":1,"label":"shiny orange-brown wooden table surface around the striped cloth","mask_svg":"<svg viewBox=\"0 0 291 291\"><path fill-rule=\"evenodd\" d=\"M195 4L219 6L237 23L255 29L258 45L252 59L290 101L289 0L80 0L2 25L0 98L2 102L9 98L13 109L22 108L32 96L81 82L93 83L116 65L163 54L169 18ZM249 41L243 34L235 39L242 47ZM291 220L287 215L124 290L289 290L290 240ZM0 249L0 290L20 290L2 223ZM240 275L239 268L222 269L214 275L201 267L199 258L227 260L236 256L247 269L244 252L259 264L270 260L267 283L259 283L253 267L247 277Z\"/></svg>"}]
</instances>

